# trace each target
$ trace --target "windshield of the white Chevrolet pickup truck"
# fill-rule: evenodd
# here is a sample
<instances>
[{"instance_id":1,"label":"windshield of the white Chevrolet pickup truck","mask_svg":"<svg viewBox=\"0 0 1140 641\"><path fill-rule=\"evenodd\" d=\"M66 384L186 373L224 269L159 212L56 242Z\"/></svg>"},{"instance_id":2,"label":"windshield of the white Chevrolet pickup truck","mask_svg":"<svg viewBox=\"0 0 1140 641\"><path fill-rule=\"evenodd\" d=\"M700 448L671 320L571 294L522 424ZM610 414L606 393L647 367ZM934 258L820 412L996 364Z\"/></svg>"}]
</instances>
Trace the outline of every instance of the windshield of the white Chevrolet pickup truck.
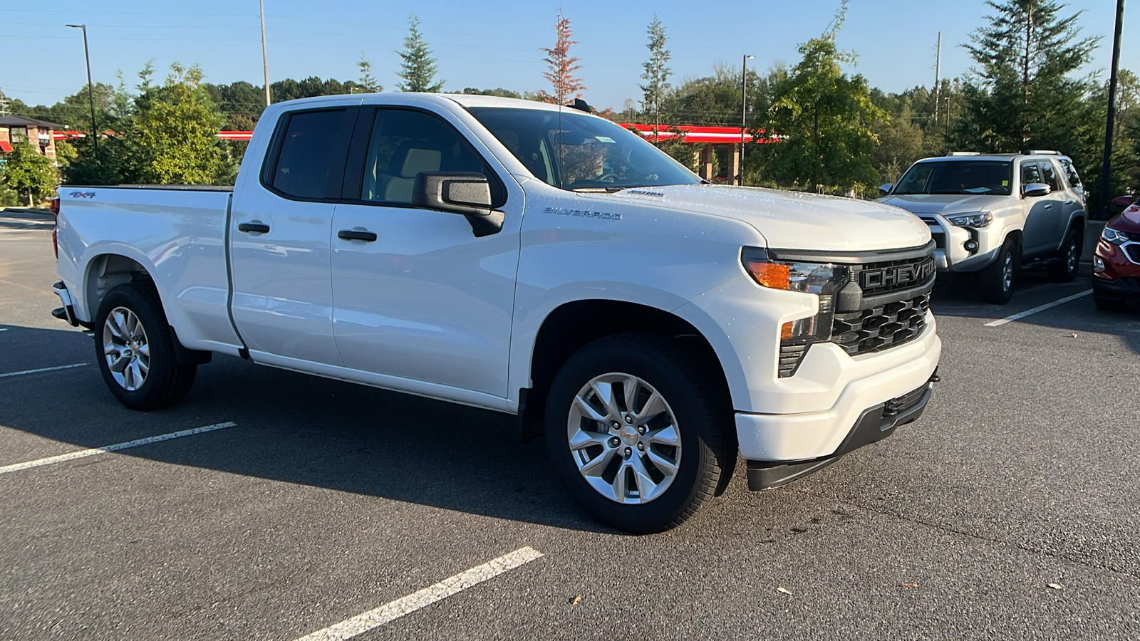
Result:
<instances>
[{"instance_id":1,"label":"windshield of the white Chevrolet pickup truck","mask_svg":"<svg viewBox=\"0 0 1140 641\"><path fill-rule=\"evenodd\" d=\"M617 192L701 181L637 133L577 109L467 111L536 178L561 189Z\"/></svg>"}]
</instances>

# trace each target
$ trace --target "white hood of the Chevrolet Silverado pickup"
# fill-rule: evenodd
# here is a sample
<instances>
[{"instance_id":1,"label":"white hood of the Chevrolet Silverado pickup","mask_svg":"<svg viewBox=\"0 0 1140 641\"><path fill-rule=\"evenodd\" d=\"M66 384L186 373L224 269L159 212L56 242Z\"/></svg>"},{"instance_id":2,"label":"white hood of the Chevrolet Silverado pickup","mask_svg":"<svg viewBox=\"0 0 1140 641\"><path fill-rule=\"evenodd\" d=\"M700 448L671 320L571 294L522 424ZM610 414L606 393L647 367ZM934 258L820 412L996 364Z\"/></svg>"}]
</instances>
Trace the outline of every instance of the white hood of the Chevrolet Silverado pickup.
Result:
<instances>
[{"instance_id":1,"label":"white hood of the Chevrolet Silverado pickup","mask_svg":"<svg viewBox=\"0 0 1140 641\"><path fill-rule=\"evenodd\" d=\"M779 249L870 251L930 242L929 228L914 216L854 198L724 185L644 187L597 196L742 220Z\"/></svg>"}]
</instances>

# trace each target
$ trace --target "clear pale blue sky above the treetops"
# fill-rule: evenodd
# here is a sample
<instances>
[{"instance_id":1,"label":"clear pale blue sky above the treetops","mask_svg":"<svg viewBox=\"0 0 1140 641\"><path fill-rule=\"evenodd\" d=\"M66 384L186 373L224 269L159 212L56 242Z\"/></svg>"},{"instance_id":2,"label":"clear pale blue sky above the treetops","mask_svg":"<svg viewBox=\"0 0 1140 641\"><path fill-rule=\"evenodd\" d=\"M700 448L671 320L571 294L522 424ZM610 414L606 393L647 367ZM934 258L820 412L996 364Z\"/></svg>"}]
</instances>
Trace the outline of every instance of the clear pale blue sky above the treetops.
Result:
<instances>
[{"instance_id":1,"label":"clear pale blue sky above the treetops","mask_svg":"<svg viewBox=\"0 0 1140 641\"><path fill-rule=\"evenodd\" d=\"M515 91L547 88L540 47L554 42L554 22L562 7L571 18L571 52L581 58L578 72L584 97L597 107L620 109L626 98L640 98L641 63L646 57L645 27L654 11L669 33L673 82L708 75L717 63L740 65L741 55L764 70L776 60L795 64L796 48L826 29L839 0L602 2L515 0L494 3L457 0L363 1L264 0L270 80L318 75L356 79L361 51L386 89L394 89L398 57L408 15L420 16L421 30L439 59L446 89L504 87ZM707 10L699 10L700 7ZM36 7L36 8L31 8ZM1064 14L1084 9L1083 33L1102 35L1089 70L1107 78L1115 2L1070 2ZM839 35L844 49L858 55L855 72L871 86L899 91L934 80L935 39L942 31L943 76L967 71L971 62L959 44L990 13L977 0L850 0ZM210 82L247 80L260 83L261 42L258 0L104 1L40 0L5 2L0 21L0 89L28 104L52 104L85 83L85 23L96 81L128 83L148 59L163 72L170 63L199 64ZM1140 7L1125 10L1121 66L1140 71Z\"/></svg>"}]
</instances>

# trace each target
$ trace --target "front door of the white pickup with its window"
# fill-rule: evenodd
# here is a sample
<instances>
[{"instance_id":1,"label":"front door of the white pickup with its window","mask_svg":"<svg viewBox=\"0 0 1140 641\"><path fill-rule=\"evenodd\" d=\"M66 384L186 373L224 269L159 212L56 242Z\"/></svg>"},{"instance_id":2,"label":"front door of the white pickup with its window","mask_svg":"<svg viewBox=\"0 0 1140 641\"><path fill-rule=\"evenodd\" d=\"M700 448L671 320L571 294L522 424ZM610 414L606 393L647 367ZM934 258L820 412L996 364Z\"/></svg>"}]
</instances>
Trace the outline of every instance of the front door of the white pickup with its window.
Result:
<instances>
[{"instance_id":1,"label":"front door of the white pickup with its window","mask_svg":"<svg viewBox=\"0 0 1140 641\"><path fill-rule=\"evenodd\" d=\"M456 124L402 108L358 124L364 162L349 167L361 176L347 177L352 192L333 216L333 331L345 367L392 376L392 387L505 398L522 194L507 198L499 177L512 179ZM477 238L463 216L413 208L421 171L486 175L503 229Z\"/></svg>"}]
</instances>

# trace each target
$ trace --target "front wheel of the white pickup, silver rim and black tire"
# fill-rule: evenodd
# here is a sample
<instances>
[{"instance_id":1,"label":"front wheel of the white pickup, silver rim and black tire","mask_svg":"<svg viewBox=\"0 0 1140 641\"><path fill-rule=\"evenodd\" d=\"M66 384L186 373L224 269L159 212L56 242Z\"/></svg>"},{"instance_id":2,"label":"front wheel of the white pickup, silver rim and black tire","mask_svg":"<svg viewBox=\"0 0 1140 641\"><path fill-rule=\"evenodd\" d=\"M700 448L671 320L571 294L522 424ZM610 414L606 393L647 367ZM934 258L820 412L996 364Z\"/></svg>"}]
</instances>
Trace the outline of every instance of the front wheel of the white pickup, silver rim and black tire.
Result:
<instances>
[{"instance_id":1,"label":"front wheel of the white pickup, silver rim and black tire","mask_svg":"<svg viewBox=\"0 0 1140 641\"><path fill-rule=\"evenodd\" d=\"M728 468L724 424L695 363L663 336L600 339L551 386L546 445L571 497L636 534L673 528L711 498Z\"/></svg>"}]
</instances>

